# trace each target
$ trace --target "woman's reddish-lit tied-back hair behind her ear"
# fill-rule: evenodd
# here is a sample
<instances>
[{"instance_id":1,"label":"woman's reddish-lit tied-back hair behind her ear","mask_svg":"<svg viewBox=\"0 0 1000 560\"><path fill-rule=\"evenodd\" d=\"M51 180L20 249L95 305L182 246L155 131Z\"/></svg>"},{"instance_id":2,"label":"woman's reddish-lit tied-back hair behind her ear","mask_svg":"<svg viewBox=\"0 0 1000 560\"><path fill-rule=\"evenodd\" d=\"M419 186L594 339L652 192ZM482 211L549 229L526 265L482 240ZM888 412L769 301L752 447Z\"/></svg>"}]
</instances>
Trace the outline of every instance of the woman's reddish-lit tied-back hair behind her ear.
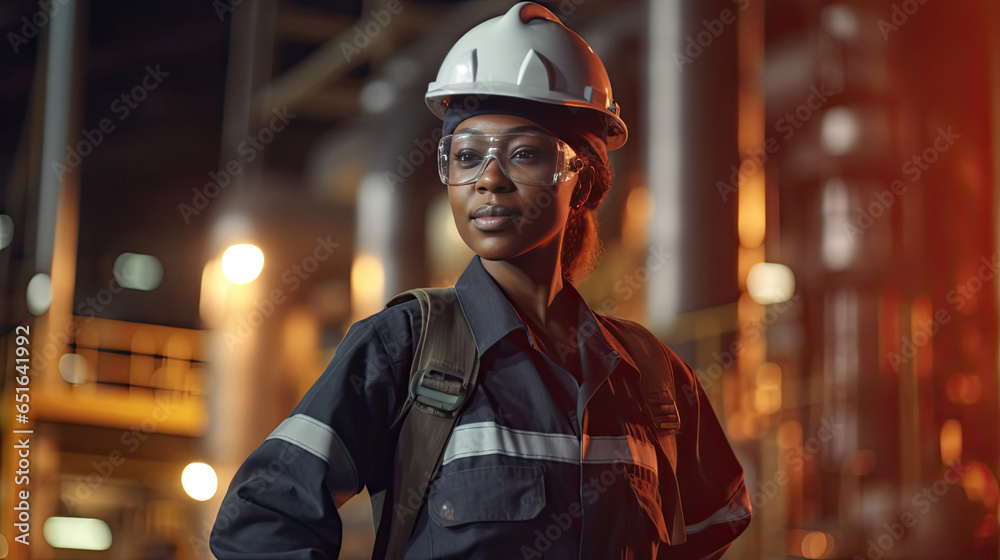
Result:
<instances>
[{"instance_id":1,"label":"woman's reddish-lit tied-back hair behind her ear","mask_svg":"<svg viewBox=\"0 0 1000 560\"><path fill-rule=\"evenodd\" d=\"M589 148L575 147L584 160L580 180L588 177L591 181L590 195L579 209L571 208L563 237L562 274L570 282L585 278L590 274L601 256L601 239L597 235L597 208L611 188L611 166L596 157ZM585 187L584 187L585 188Z\"/></svg>"}]
</instances>

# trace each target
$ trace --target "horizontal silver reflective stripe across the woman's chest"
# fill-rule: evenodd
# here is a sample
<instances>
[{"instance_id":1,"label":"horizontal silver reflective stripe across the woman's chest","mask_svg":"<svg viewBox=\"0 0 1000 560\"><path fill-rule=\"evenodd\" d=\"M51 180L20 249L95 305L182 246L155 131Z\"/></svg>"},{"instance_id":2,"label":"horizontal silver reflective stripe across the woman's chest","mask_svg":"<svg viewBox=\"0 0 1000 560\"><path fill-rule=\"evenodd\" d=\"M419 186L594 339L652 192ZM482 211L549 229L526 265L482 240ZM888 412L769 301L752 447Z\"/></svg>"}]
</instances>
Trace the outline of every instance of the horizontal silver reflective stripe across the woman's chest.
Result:
<instances>
[{"instance_id":1,"label":"horizontal silver reflective stripe across the woman's chest","mask_svg":"<svg viewBox=\"0 0 1000 560\"><path fill-rule=\"evenodd\" d=\"M580 441L575 435L530 432L500 426L496 422L463 424L452 430L441 462L483 455L506 455L525 459L580 463ZM621 461L656 470L656 452L628 436L587 438L584 463Z\"/></svg>"}]
</instances>

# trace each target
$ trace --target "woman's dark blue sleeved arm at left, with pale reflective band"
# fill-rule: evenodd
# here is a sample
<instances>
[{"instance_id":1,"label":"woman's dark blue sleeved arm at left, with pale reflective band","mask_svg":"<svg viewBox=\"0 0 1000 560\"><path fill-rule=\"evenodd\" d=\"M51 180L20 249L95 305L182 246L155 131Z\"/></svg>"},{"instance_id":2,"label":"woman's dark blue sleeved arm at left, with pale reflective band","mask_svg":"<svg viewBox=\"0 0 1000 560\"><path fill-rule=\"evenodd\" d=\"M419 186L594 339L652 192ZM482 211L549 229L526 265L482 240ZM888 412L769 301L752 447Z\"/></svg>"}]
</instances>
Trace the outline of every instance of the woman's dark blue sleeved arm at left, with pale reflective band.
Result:
<instances>
[{"instance_id":1,"label":"woman's dark blue sleeved arm at left, with pale reflective band","mask_svg":"<svg viewBox=\"0 0 1000 560\"><path fill-rule=\"evenodd\" d=\"M413 315L416 319L413 320ZM219 560L333 559L337 506L367 484L391 484L420 309L398 305L358 322L291 415L229 486L210 538Z\"/></svg>"}]
</instances>

